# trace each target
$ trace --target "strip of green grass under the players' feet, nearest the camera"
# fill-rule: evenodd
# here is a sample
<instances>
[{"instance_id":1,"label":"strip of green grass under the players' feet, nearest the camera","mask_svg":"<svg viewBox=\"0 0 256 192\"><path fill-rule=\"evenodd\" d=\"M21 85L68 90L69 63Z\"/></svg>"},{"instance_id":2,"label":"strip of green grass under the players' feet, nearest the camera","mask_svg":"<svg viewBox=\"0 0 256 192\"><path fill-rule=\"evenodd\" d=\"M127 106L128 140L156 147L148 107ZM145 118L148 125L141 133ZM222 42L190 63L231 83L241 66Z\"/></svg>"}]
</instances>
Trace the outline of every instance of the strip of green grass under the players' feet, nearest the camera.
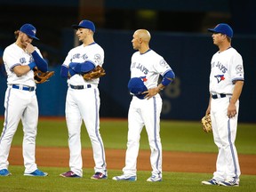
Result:
<instances>
[{"instance_id":1,"label":"strip of green grass under the players' feet, nearest the camera","mask_svg":"<svg viewBox=\"0 0 256 192\"><path fill-rule=\"evenodd\" d=\"M201 180L209 179L212 174L208 173L187 173L187 172L164 172L164 180L162 182L150 183L146 180L150 172L138 172L138 180L116 181L111 180L113 176L119 175L121 171L109 170L108 180L91 180L93 170L84 170L83 178L61 178L60 172L67 171L63 168L44 167L44 171L49 172L49 176L44 178L25 177L22 175L24 168L22 166L11 166L11 177L0 178L0 191L51 191L51 192L70 192L70 191L101 191L101 192L221 192L221 191L255 191L256 177L250 175L242 175L240 187L225 188L219 186L202 186Z\"/></svg>"}]
</instances>

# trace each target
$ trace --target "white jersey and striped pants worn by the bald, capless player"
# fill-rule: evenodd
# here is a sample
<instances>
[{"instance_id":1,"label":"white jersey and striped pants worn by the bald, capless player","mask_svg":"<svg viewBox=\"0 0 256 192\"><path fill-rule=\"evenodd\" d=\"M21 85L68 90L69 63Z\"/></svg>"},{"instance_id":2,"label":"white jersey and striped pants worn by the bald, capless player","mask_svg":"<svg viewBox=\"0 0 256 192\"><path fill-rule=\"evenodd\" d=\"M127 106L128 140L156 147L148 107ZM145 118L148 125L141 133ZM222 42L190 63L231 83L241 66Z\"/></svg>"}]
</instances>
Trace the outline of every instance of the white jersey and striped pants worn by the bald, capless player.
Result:
<instances>
[{"instance_id":1,"label":"white jersey and striped pants worn by the bald, capless player","mask_svg":"<svg viewBox=\"0 0 256 192\"><path fill-rule=\"evenodd\" d=\"M148 50L143 54L134 52L130 69L131 78L141 77L148 89L157 86L159 75L164 76L167 71L172 70L164 58L153 50ZM128 113L128 142L123 168L124 175L136 176L140 132L145 125L151 149L152 176L162 178L162 144L160 139L162 104L162 99L158 93L149 100L132 97Z\"/></svg>"}]
</instances>

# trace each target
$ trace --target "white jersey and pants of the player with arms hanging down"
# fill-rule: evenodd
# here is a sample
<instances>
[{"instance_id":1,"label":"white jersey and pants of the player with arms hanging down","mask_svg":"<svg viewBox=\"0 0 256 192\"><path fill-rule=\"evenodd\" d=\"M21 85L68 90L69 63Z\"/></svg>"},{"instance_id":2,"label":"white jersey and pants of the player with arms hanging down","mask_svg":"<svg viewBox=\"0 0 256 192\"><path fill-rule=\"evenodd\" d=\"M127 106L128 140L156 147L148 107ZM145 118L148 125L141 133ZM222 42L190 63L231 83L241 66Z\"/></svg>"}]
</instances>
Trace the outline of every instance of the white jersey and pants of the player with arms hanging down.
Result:
<instances>
[{"instance_id":1,"label":"white jersey and pants of the player with arms hanging down","mask_svg":"<svg viewBox=\"0 0 256 192\"><path fill-rule=\"evenodd\" d=\"M210 92L224 97L212 98L212 132L219 154L216 162L215 180L233 180L239 182L240 166L235 146L239 100L236 101L236 116L229 118L228 105L233 94L236 80L244 80L244 68L241 55L232 47L212 56L210 74Z\"/></svg>"}]
</instances>

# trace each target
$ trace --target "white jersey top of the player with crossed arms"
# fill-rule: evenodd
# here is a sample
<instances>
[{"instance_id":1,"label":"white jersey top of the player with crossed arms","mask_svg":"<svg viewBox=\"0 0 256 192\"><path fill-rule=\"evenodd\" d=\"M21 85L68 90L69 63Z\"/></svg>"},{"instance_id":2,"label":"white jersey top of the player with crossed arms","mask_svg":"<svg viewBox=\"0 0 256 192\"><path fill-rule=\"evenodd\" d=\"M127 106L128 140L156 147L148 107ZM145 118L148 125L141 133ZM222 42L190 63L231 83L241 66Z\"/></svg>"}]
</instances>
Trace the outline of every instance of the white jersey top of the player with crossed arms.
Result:
<instances>
[{"instance_id":1,"label":"white jersey top of the player with crossed arms","mask_svg":"<svg viewBox=\"0 0 256 192\"><path fill-rule=\"evenodd\" d=\"M104 60L104 51L99 44L93 43L87 46L81 44L68 52L68 56L64 60L63 65L68 67L70 62L83 63L85 61L91 61L95 67L100 65L102 67ZM100 78L92 79L88 81L88 84L98 85ZM83 76L76 74L68 79L68 84L83 85L87 84L84 82Z\"/></svg>"}]
</instances>

